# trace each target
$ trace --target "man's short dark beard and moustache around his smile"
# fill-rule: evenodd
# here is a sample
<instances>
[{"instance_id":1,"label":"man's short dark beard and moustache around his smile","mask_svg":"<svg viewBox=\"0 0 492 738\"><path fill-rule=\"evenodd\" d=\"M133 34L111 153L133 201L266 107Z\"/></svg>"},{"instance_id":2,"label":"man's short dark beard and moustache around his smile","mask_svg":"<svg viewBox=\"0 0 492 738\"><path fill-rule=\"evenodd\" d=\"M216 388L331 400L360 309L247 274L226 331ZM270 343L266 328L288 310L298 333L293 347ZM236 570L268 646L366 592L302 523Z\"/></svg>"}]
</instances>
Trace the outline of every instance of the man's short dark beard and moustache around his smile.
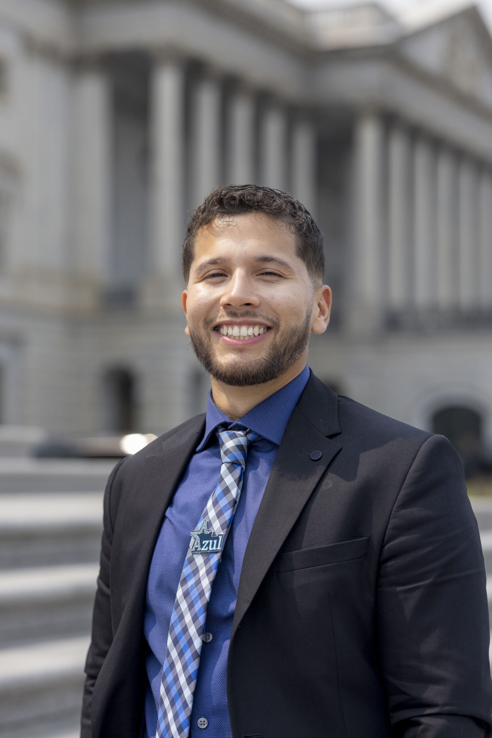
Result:
<instances>
[{"instance_id":1,"label":"man's short dark beard and moustache around his smile","mask_svg":"<svg viewBox=\"0 0 492 738\"><path fill-rule=\"evenodd\" d=\"M252 322L258 319L265 320L264 317L249 311L241 313L229 311L227 317L250 317ZM266 323L271 325L270 330L274 331L267 354L249 361L237 356L224 363L218 362L209 335L209 328L215 322L216 319L205 320L203 331L192 328L188 324L191 345L196 358L216 382L229 384L230 387L252 387L254 384L265 384L277 379L304 354L311 333L311 308L306 313L302 323L285 328L285 331L280 335L278 335L279 321L267 318Z\"/></svg>"}]
</instances>

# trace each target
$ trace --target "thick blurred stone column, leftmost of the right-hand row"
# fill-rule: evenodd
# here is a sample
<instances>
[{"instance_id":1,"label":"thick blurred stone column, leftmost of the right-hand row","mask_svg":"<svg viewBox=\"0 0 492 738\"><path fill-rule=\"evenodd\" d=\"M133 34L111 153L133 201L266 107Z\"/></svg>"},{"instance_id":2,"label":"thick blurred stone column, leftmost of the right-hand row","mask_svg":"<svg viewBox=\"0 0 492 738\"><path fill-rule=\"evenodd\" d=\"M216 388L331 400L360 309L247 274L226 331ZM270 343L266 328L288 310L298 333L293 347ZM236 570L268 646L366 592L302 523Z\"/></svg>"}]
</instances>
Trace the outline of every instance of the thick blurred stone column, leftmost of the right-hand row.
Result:
<instances>
[{"instance_id":1,"label":"thick blurred stone column, leftmost of the right-hand row","mask_svg":"<svg viewBox=\"0 0 492 738\"><path fill-rule=\"evenodd\" d=\"M354 331L377 329L384 308L384 123L375 111L358 116L354 131Z\"/></svg>"}]
</instances>

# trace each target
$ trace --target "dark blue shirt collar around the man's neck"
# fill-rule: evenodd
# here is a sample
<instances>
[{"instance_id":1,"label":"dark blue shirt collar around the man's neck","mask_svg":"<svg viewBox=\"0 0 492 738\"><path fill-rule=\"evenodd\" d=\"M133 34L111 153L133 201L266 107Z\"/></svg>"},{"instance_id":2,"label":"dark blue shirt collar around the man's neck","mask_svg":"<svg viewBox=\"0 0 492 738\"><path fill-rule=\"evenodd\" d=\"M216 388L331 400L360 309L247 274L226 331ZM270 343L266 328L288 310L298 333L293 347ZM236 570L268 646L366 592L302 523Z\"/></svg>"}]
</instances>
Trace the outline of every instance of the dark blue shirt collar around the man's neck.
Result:
<instances>
[{"instance_id":1,"label":"dark blue shirt collar around the man's neck","mask_svg":"<svg viewBox=\"0 0 492 738\"><path fill-rule=\"evenodd\" d=\"M291 382L285 384L281 390L277 390L273 395L267 397L260 404L252 407L246 415L236 421L249 430L259 433L263 438L267 438L277 446L280 446L285 426L288 418L291 417L292 410L296 407L302 390L306 386L309 379L310 369L308 366ZM207 400L207 419L205 422L205 433L201 443L197 446L197 452L202 451L207 445L210 436L215 429L222 424L232 425L232 420L228 415L222 412L212 399L212 390L209 390Z\"/></svg>"}]
</instances>

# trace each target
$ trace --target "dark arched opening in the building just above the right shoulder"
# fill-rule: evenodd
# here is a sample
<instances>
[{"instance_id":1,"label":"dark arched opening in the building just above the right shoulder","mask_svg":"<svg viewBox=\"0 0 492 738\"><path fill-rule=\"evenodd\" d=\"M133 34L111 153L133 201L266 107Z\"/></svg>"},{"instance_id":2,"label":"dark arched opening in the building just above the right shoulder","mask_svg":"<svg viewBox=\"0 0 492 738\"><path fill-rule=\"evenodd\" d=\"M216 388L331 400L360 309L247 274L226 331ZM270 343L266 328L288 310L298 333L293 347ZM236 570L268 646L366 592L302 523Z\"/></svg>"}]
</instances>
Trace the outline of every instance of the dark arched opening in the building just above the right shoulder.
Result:
<instances>
[{"instance_id":1,"label":"dark arched opening in the building just above the right shoulder","mask_svg":"<svg viewBox=\"0 0 492 738\"><path fill-rule=\"evenodd\" d=\"M465 476L482 471L485 463L482 449L482 418L469 407L444 407L432 418L434 433L446 435L460 456Z\"/></svg>"}]
</instances>

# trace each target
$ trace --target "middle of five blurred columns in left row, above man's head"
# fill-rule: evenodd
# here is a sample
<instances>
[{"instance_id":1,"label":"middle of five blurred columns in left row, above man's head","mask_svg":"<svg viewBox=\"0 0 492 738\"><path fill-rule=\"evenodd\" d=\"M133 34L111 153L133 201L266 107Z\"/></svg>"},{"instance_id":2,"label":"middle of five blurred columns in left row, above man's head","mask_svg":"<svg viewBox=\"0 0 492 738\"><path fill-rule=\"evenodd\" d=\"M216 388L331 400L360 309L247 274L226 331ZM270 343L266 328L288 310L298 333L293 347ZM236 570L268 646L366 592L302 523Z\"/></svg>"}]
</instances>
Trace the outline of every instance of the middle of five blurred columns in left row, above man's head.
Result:
<instances>
[{"instance_id":1,"label":"middle of five blurred columns in left row, above man's head","mask_svg":"<svg viewBox=\"0 0 492 738\"><path fill-rule=\"evenodd\" d=\"M252 184L254 176L254 97L237 89L229 100L227 183Z\"/></svg>"}]
</instances>

